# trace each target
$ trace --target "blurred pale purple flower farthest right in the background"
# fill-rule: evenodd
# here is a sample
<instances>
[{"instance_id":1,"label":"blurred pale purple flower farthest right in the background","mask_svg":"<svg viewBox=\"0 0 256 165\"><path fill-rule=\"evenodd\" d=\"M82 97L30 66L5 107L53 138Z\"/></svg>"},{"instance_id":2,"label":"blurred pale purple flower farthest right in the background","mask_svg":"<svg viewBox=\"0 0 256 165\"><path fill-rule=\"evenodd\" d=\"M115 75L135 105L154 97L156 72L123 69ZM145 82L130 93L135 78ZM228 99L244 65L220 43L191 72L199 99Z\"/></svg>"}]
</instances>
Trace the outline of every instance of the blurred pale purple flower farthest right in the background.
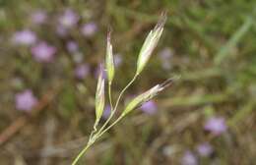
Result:
<instances>
[{"instance_id":1,"label":"blurred pale purple flower farthest right in the background","mask_svg":"<svg viewBox=\"0 0 256 165\"><path fill-rule=\"evenodd\" d=\"M220 136L226 131L226 125L223 117L212 117L207 120L205 130L215 136Z\"/></svg>"}]
</instances>

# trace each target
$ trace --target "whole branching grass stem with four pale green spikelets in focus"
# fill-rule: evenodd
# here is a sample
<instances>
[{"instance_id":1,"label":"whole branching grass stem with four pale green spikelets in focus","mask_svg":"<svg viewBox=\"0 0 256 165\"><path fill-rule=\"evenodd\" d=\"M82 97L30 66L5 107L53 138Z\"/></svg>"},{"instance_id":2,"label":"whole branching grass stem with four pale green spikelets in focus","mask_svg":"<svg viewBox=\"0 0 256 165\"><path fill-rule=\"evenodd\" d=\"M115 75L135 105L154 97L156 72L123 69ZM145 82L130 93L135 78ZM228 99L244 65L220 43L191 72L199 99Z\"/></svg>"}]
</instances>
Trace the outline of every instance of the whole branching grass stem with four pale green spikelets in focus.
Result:
<instances>
[{"instance_id":1,"label":"whole branching grass stem with four pale green spikelets in focus","mask_svg":"<svg viewBox=\"0 0 256 165\"><path fill-rule=\"evenodd\" d=\"M120 116L117 117L117 119L113 121L111 124L109 124L112 117L116 114L117 107L123 93L132 83L135 82L135 80L138 78L138 76L141 74L141 72L147 65L153 50L155 49L155 47L159 42L160 35L162 33L165 21L166 21L166 15L164 13L161 15L160 21L157 24L157 26L154 29L152 29L148 34L141 48L138 61L137 61L137 70L135 72L133 79L121 90L119 96L117 97L116 103L114 105L113 105L112 96L111 96L111 84L115 75L115 67L114 67L114 59L113 59L113 53L112 53L112 45L110 42L111 34L110 34L110 31L108 31L107 39L106 39L107 43L106 43L105 70L106 70L107 83L108 83L108 97L109 97L108 99L109 99L109 104L111 108L110 115L108 119L104 122L104 124L98 129L98 123L103 114L104 104L105 104L105 94L104 94L105 80L103 78L103 67L100 66L100 74L98 76L97 86L96 86L96 122L94 125L94 130L91 133L91 136L88 140L87 145L78 154L76 159L73 161L72 165L76 165L78 163L79 159L86 153L88 148L90 148L96 142L96 139L100 138L104 133L106 133L109 129L111 129L115 124L117 124L122 118L124 118L132 110L140 107L143 103L155 97L157 94L160 93L160 91L162 91L165 87L167 87L173 82L173 79L169 79L164 83L157 84L154 87L150 88L149 90L143 92L142 94L139 94L125 106Z\"/></svg>"}]
</instances>

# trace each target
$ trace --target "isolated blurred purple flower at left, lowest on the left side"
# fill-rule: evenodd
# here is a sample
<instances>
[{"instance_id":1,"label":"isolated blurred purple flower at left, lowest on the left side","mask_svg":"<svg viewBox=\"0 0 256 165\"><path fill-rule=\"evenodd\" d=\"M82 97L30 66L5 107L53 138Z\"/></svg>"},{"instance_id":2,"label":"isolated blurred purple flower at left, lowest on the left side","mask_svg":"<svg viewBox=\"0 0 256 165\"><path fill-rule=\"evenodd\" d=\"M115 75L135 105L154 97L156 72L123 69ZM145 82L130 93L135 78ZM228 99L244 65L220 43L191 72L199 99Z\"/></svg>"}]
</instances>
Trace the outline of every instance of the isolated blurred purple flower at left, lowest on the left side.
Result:
<instances>
[{"instance_id":1,"label":"isolated blurred purple flower at left, lowest on the left side","mask_svg":"<svg viewBox=\"0 0 256 165\"><path fill-rule=\"evenodd\" d=\"M31 89L17 93L15 99L16 108L21 111L31 111L34 105L37 103L37 99L33 96Z\"/></svg>"}]
</instances>

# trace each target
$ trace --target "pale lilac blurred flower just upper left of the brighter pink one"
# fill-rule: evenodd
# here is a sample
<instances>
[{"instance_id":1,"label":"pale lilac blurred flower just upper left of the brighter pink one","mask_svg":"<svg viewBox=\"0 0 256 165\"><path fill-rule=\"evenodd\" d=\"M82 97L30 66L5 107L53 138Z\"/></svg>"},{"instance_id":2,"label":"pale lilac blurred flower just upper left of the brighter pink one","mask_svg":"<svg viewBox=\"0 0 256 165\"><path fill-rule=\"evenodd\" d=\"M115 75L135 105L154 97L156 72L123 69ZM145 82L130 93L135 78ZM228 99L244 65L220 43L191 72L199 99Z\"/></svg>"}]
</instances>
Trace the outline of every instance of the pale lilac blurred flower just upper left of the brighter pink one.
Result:
<instances>
[{"instance_id":1,"label":"pale lilac blurred flower just upper left of the brighter pink one","mask_svg":"<svg viewBox=\"0 0 256 165\"><path fill-rule=\"evenodd\" d=\"M13 38L15 44L32 45L36 41L35 33L30 29L15 32Z\"/></svg>"}]
</instances>

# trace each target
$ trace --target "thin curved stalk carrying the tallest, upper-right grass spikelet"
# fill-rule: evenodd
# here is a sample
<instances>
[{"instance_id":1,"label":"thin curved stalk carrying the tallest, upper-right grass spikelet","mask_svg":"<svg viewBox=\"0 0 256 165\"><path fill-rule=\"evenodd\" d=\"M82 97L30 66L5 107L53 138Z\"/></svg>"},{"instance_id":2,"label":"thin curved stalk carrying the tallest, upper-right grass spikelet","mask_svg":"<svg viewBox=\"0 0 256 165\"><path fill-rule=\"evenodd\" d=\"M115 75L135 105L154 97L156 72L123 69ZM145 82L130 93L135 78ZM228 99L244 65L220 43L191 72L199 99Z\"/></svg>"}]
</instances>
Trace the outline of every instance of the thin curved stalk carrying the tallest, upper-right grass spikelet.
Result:
<instances>
[{"instance_id":1,"label":"thin curved stalk carrying the tallest, upper-right grass spikelet","mask_svg":"<svg viewBox=\"0 0 256 165\"><path fill-rule=\"evenodd\" d=\"M128 84L122 89L122 91L120 92L120 94L119 94L119 96L118 96L118 98L117 98L117 100L116 100L114 109L111 111L110 116L108 117L108 119L106 120L106 122L103 124L103 126L99 129L99 131L97 132L96 135L99 135L99 134L104 130L104 128L106 127L106 125L110 122L110 120L112 119L112 117L114 116L114 114L115 114L115 112L116 112L116 110L117 110L118 104L119 104L119 102L120 102L120 99L121 99L123 93L125 92L125 90L126 90L132 83L134 83L134 81L136 80L137 77L138 77L138 75L135 75L135 76L133 77L133 79L130 81L130 83L128 83Z\"/></svg>"}]
</instances>

